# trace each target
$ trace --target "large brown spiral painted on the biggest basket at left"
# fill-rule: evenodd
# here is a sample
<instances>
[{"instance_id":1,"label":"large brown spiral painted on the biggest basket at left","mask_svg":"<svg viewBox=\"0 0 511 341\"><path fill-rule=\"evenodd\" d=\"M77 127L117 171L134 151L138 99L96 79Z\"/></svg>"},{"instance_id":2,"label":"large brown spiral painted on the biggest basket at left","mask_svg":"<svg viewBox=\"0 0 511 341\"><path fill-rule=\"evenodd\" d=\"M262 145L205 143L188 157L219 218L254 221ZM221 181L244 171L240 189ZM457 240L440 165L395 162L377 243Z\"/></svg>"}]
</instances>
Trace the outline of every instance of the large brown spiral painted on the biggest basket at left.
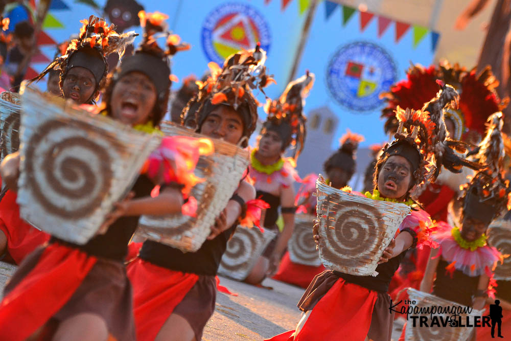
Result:
<instances>
[{"instance_id":1,"label":"large brown spiral painted on the biggest basket at left","mask_svg":"<svg viewBox=\"0 0 511 341\"><path fill-rule=\"evenodd\" d=\"M48 213L83 218L108 194L112 181L108 150L116 147L104 131L93 134L91 129L81 122L59 120L35 127L25 148L27 185Z\"/></svg>"}]
</instances>

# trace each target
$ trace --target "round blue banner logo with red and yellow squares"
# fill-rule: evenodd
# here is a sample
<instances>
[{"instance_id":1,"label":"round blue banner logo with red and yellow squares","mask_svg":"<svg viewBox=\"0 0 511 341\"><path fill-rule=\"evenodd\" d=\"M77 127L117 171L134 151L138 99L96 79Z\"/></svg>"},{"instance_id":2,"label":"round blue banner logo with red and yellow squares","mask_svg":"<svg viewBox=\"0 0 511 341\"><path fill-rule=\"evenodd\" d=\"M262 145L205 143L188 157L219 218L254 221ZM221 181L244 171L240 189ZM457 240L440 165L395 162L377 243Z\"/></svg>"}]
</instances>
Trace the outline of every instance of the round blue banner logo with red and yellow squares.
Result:
<instances>
[{"instance_id":1,"label":"round blue banner logo with red and yellow squares","mask_svg":"<svg viewBox=\"0 0 511 341\"><path fill-rule=\"evenodd\" d=\"M327 69L330 93L341 105L356 111L378 108L378 96L397 79L396 64L380 46L357 41L341 47Z\"/></svg>"}]
</instances>

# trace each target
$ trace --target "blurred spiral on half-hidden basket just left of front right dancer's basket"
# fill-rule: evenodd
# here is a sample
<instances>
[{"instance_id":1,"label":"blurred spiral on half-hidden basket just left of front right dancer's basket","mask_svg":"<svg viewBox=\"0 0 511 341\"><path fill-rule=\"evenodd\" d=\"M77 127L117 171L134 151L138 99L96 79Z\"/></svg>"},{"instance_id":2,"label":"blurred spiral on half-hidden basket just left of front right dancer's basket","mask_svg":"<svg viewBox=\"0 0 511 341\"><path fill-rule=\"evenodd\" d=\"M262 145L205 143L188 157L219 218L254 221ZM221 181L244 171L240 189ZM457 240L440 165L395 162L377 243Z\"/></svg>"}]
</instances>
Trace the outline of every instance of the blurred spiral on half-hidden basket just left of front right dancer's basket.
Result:
<instances>
[{"instance_id":1,"label":"blurred spiral on half-hidden basket just left of front right dancer's basket","mask_svg":"<svg viewBox=\"0 0 511 341\"><path fill-rule=\"evenodd\" d=\"M319 263L316 243L312 236L312 223L298 223L288 243L290 255L302 264Z\"/></svg>"}]
</instances>

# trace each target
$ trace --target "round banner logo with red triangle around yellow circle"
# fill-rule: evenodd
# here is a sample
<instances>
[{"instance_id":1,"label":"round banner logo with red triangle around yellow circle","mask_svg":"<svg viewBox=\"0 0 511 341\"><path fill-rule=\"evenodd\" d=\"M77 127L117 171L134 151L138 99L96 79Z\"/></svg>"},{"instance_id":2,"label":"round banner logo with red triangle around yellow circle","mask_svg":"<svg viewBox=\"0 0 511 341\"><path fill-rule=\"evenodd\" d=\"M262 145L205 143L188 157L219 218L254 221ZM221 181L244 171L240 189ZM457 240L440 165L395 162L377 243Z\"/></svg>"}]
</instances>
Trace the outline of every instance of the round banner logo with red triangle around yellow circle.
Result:
<instances>
[{"instance_id":1,"label":"round banner logo with red triangle around yellow circle","mask_svg":"<svg viewBox=\"0 0 511 341\"><path fill-rule=\"evenodd\" d=\"M202 25L202 49L207 58L223 64L226 57L255 47L270 48L270 28L262 14L246 4L227 3L207 14Z\"/></svg>"}]
</instances>

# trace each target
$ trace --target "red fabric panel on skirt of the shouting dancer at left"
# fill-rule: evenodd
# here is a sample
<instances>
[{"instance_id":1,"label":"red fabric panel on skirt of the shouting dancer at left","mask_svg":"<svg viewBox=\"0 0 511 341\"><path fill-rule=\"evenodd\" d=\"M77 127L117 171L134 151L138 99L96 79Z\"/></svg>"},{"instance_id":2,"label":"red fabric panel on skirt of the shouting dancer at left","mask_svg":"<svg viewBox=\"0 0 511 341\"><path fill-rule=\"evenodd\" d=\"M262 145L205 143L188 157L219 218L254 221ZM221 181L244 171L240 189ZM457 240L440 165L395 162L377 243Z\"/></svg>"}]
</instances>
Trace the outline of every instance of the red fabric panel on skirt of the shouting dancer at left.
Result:
<instances>
[{"instance_id":1,"label":"red fabric panel on skirt of the shouting dancer at left","mask_svg":"<svg viewBox=\"0 0 511 341\"><path fill-rule=\"evenodd\" d=\"M72 297L96 263L75 248L51 244L37 265L0 304L0 330L9 340L24 340Z\"/></svg>"}]
</instances>

